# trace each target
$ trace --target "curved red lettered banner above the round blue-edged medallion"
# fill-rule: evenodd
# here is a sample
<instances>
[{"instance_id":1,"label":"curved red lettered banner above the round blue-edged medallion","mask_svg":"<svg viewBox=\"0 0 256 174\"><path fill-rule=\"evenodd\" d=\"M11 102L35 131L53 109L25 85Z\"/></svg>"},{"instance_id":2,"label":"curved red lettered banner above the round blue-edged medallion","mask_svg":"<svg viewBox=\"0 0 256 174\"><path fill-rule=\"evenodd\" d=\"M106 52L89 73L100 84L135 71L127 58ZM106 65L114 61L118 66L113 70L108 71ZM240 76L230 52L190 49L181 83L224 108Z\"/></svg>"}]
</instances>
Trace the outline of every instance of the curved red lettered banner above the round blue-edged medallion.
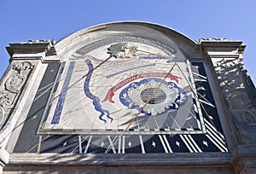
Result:
<instances>
[{"instance_id":1,"label":"curved red lettered banner above the round blue-edged medallion","mask_svg":"<svg viewBox=\"0 0 256 174\"><path fill-rule=\"evenodd\" d=\"M108 90L108 94L105 96L104 100L102 102L113 102L112 97L114 95L114 92L125 86L125 84L129 84L134 80L137 80L139 78L148 78L148 77L157 77L157 78L170 78L171 80L174 80L178 83L178 78L175 75L172 75L172 73L140 73L133 75L129 78L126 78L122 81L120 81L118 84L115 84L111 89ZM114 102L113 102L114 103Z\"/></svg>"}]
</instances>

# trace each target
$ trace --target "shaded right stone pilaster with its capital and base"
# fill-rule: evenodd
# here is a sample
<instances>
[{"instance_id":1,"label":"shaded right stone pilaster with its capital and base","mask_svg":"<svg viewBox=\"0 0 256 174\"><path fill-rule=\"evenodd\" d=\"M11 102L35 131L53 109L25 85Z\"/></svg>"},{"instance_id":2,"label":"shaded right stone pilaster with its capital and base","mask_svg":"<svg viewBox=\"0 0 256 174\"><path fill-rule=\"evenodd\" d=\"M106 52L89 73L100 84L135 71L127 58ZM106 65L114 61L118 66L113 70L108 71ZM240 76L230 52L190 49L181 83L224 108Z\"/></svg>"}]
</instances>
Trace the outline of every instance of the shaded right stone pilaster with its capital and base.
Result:
<instances>
[{"instance_id":1,"label":"shaded right stone pilaster with its capital and base","mask_svg":"<svg viewBox=\"0 0 256 174\"><path fill-rule=\"evenodd\" d=\"M256 90L243 64L245 45L241 41L201 39L201 49L212 61L236 136L232 152L234 170L251 173L256 170Z\"/></svg>"}]
</instances>

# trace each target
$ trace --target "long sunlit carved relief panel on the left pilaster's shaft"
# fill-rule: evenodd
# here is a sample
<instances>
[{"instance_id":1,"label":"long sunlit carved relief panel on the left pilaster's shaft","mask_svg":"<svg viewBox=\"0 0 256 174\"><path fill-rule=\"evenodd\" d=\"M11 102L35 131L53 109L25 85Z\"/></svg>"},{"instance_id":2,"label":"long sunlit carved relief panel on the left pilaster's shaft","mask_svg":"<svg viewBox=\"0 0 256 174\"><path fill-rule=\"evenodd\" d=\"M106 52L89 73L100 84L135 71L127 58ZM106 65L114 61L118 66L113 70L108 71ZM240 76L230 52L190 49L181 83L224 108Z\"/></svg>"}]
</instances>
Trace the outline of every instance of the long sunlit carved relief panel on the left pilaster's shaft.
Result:
<instances>
[{"instance_id":1,"label":"long sunlit carved relief panel on the left pilaster's shaft","mask_svg":"<svg viewBox=\"0 0 256 174\"><path fill-rule=\"evenodd\" d=\"M20 91L32 71L32 64L28 61L18 62L12 66L0 89L0 128L9 116L10 109L20 96Z\"/></svg>"}]
</instances>

